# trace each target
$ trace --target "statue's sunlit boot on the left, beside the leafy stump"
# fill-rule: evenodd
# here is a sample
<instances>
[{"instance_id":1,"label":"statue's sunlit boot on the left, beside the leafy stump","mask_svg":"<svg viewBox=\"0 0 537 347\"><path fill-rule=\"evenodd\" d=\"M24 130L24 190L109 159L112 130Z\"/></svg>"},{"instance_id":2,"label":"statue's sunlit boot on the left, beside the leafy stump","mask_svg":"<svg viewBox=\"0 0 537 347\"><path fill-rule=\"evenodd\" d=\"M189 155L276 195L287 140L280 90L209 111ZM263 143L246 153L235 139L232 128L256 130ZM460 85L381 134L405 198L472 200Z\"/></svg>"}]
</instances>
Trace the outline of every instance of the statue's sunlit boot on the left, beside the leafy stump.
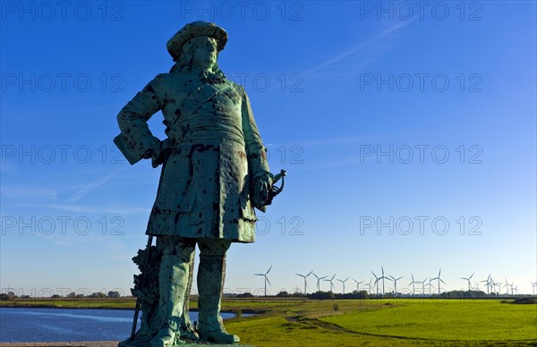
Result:
<instances>
[{"instance_id":1,"label":"statue's sunlit boot on the left, beside the leafy stump","mask_svg":"<svg viewBox=\"0 0 537 347\"><path fill-rule=\"evenodd\" d=\"M163 254L158 274L158 320L164 322L164 325L151 339L151 346L168 347L181 343L179 329L189 272L190 265L187 261L173 254Z\"/></svg>"}]
</instances>

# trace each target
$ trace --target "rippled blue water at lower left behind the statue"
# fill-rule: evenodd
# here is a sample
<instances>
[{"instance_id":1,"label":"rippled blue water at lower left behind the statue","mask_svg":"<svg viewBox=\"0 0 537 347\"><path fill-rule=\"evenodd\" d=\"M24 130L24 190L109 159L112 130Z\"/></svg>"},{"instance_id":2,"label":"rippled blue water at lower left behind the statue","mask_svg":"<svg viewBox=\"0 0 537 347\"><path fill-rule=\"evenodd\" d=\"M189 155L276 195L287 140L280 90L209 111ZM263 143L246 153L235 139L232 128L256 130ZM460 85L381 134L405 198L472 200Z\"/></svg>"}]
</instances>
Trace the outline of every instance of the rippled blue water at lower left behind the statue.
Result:
<instances>
[{"instance_id":1,"label":"rippled blue water at lower left behind the statue","mask_svg":"<svg viewBox=\"0 0 537 347\"><path fill-rule=\"evenodd\" d=\"M0 308L0 342L119 341L129 337L133 316L131 309ZM198 312L190 316L197 320Z\"/></svg>"}]
</instances>

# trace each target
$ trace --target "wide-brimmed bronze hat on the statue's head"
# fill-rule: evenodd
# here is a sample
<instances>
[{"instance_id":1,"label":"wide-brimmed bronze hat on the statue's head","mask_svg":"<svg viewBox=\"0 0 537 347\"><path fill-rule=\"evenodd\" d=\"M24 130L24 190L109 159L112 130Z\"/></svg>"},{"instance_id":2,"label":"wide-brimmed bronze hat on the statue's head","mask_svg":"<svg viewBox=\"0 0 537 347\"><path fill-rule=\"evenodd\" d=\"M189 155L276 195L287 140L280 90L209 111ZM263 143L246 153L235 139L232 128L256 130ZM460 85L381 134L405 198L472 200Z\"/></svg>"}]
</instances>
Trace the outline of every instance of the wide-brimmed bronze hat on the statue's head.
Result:
<instances>
[{"instance_id":1,"label":"wide-brimmed bronze hat on the statue's head","mask_svg":"<svg viewBox=\"0 0 537 347\"><path fill-rule=\"evenodd\" d=\"M226 46L227 32L215 23L209 21L193 21L186 24L182 30L177 31L173 38L166 44L167 50L174 60L179 58L183 51L183 45L191 38L197 36L209 36L217 40L217 50L220 52Z\"/></svg>"}]
</instances>

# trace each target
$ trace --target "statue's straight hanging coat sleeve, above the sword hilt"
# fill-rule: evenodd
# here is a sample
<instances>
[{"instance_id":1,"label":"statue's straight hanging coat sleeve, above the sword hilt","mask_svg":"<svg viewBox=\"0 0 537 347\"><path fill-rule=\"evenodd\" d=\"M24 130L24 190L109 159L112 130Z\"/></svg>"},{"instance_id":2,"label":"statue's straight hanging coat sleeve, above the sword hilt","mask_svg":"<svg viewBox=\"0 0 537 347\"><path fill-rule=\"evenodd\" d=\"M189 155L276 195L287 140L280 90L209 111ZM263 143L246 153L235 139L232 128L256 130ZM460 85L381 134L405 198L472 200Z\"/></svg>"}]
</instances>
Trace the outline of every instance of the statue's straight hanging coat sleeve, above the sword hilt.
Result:
<instances>
[{"instance_id":1,"label":"statue's straight hanging coat sleeve, above the sword hilt","mask_svg":"<svg viewBox=\"0 0 537 347\"><path fill-rule=\"evenodd\" d=\"M246 157L248 159L248 174L250 184L255 185L257 182L271 182L272 174L268 169L267 148L263 146L260 131L258 131L253 114L251 112L250 99L246 95L243 87L239 86L243 97L242 115L243 115L243 133L246 144Z\"/></svg>"}]
</instances>

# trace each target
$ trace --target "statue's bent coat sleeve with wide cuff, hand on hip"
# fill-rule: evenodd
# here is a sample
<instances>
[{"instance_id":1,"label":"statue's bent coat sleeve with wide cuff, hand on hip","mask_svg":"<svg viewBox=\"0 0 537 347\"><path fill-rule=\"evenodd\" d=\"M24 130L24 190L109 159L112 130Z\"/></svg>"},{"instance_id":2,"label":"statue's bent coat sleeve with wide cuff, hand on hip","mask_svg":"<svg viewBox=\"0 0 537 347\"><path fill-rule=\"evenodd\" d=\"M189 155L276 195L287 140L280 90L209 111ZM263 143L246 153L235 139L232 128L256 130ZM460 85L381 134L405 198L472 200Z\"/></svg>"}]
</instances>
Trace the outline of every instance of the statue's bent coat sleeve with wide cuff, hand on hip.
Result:
<instances>
[{"instance_id":1,"label":"statue's bent coat sleeve with wide cuff, hand on hip","mask_svg":"<svg viewBox=\"0 0 537 347\"><path fill-rule=\"evenodd\" d=\"M163 75L159 74L117 114L121 134L114 141L131 164L151 157L160 149L160 140L149 131L147 121L163 106L164 100L159 92L162 84Z\"/></svg>"}]
</instances>

